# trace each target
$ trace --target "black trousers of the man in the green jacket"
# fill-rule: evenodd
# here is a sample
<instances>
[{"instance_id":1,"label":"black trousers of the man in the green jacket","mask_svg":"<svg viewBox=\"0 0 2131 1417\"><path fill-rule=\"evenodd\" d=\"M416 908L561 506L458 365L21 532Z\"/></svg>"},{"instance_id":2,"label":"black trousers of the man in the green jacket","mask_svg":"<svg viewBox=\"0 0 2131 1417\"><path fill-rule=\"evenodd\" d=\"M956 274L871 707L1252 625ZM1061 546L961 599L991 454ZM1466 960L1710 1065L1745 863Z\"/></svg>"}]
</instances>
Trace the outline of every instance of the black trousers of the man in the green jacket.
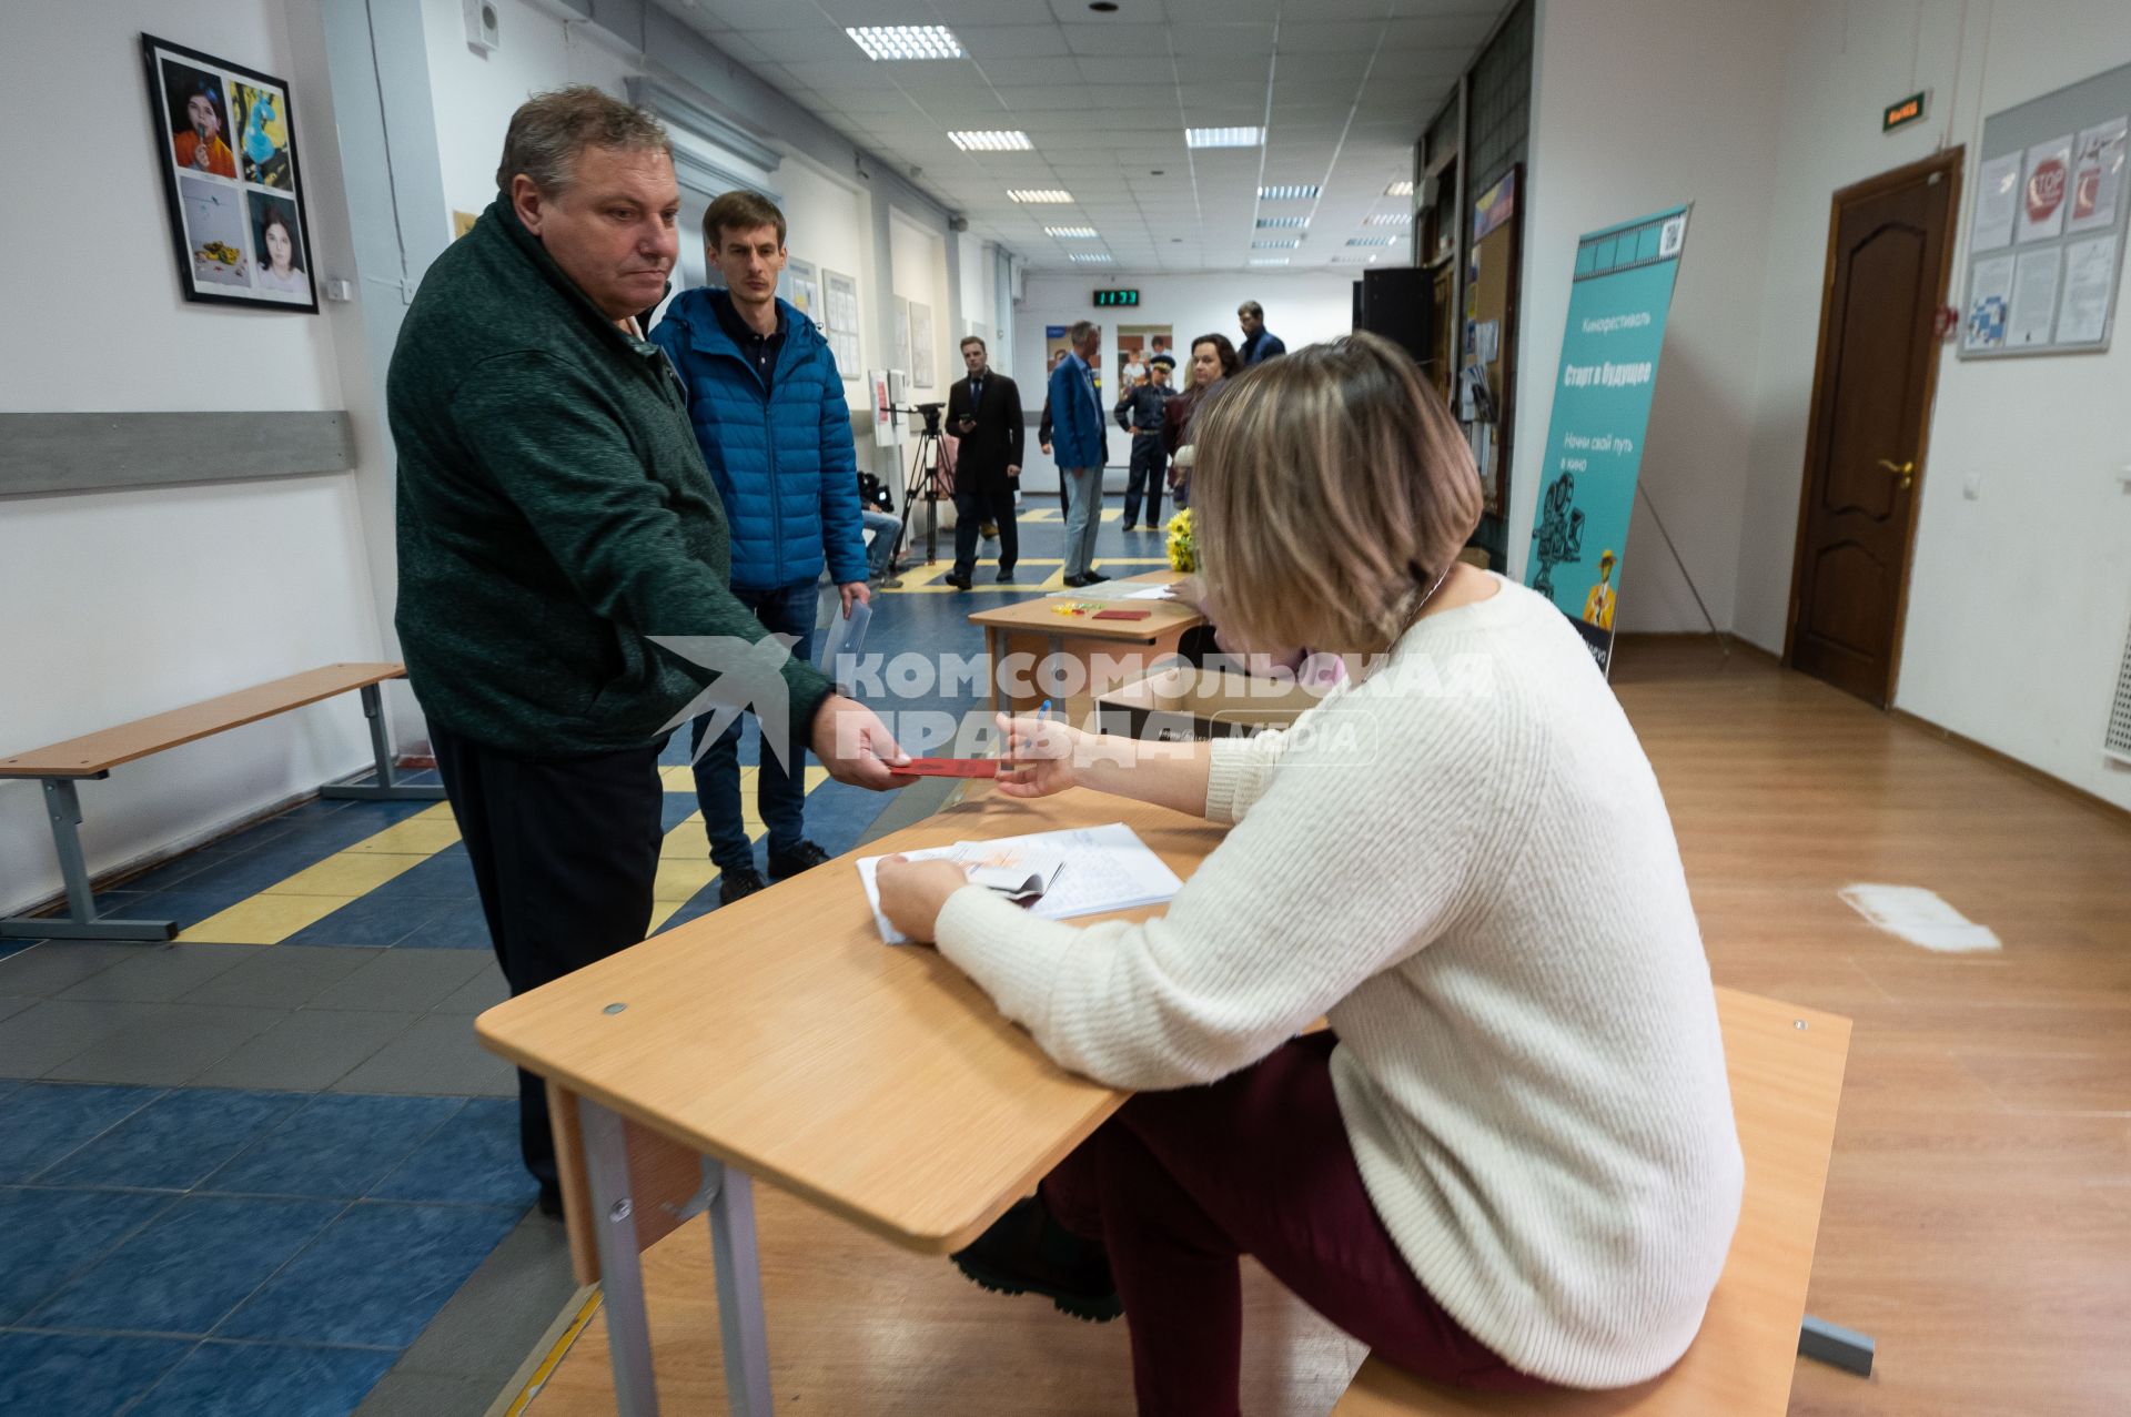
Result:
<instances>
[{"instance_id":1,"label":"black trousers of the man in the green jacket","mask_svg":"<svg viewBox=\"0 0 2131 1417\"><path fill-rule=\"evenodd\" d=\"M663 835L665 744L522 759L435 720L428 735L511 997L644 940ZM543 1187L556 1185L548 1087L522 1068L518 1146L526 1170Z\"/></svg>"}]
</instances>

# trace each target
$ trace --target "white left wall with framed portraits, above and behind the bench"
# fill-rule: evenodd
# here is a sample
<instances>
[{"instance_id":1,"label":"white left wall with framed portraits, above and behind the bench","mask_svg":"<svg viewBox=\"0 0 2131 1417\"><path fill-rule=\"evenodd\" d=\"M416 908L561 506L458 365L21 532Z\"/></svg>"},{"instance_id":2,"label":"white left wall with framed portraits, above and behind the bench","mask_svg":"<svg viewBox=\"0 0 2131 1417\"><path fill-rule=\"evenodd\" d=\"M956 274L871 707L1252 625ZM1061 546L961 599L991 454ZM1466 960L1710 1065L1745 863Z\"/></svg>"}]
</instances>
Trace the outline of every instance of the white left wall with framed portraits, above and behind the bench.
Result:
<instances>
[{"instance_id":1,"label":"white left wall with framed portraits, above and behind the bench","mask_svg":"<svg viewBox=\"0 0 2131 1417\"><path fill-rule=\"evenodd\" d=\"M347 307L305 315L181 298L149 141L143 30L290 81L313 266L347 268L328 85L292 53L281 0L11 6L0 89L17 111L68 113L70 141L96 162L94 175L58 170L62 190L47 202L0 202L0 249L49 247L53 209L94 207L107 219L68 226L62 266L0 268L0 307L15 330L0 345L0 411L347 407L335 339L337 322L354 317ZM358 456L375 473L381 452L358 443ZM354 484L337 473L6 501L0 752L377 658ZM367 761L349 697L128 765L81 788L90 867L209 835ZM38 786L0 782L0 910L58 884Z\"/></svg>"}]
</instances>

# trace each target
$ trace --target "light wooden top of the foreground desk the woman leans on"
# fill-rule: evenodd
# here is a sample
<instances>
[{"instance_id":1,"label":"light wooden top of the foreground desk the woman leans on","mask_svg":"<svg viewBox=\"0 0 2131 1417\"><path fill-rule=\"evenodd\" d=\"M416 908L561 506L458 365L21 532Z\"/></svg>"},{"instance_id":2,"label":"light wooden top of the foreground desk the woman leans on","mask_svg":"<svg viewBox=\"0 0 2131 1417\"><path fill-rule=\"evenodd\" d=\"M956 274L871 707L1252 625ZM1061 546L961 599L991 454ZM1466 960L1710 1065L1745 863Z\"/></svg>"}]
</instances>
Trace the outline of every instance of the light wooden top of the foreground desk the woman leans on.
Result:
<instances>
[{"instance_id":1,"label":"light wooden top of the foreground desk the woman leans on","mask_svg":"<svg viewBox=\"0 0 2131 1417\"><path fill-rule=\"evenodd\" d=\"M475 1027L535 1074L946 1253L1034 1189L1123 1093L1057 1068L936 950L882 944L852 859L1115 820L1178 876L1223 833L1093 793L982 793L499 1004Z\"/></svg>"}]
</instances>

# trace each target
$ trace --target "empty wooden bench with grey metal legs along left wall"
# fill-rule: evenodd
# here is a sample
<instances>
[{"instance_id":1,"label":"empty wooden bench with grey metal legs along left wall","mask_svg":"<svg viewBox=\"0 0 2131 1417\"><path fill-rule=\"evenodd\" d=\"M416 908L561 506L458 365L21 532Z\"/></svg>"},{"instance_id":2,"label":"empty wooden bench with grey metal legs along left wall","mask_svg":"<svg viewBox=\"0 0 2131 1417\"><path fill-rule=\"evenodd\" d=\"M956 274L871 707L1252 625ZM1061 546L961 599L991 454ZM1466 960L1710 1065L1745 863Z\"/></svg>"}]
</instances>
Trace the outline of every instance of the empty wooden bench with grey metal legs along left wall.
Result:
<instances>
[{"instance_id":1,"label":"empty wooden bench with grey metal legs along left wall","mask_svg":"<svg viewBox=\"0 0 2131 1417\"><path fill-rule=\"evenodd\" d=\"M75 784L109 778L113 767L145 759L164 748L177 748L260 718L362 690L362 712L371 720L371 752L377 759L375 782L328 782L320 797L422 799L443 797L441 786L409 786L392 780L392 748L386 742L384 697L377 686L405 678L403 665L326 665L292 673L286 680L258 684L234 695L192 703L168 714L151 714L132 722L51 744L34 752L0 759L0 778L38 778L45 784L45 814L51 818L51 842L60 852L60 876L66 880L64 916L0 918L0 940L170 940L177 921L98 918L90 893L90 867L81 854L81 799Z\"/></svg>"}]
</instances>

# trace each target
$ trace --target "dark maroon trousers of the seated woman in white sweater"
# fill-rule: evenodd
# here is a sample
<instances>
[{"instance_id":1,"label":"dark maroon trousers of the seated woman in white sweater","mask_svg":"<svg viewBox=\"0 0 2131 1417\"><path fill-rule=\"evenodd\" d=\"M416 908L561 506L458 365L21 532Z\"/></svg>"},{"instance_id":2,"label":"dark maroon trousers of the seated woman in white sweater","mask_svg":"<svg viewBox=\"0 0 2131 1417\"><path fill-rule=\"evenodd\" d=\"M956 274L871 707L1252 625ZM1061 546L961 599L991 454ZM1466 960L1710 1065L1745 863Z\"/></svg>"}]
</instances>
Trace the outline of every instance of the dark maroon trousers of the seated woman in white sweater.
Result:
<instances>
[{"instance_id":1,"label":"dark maroon trousers of the seated woman in white sweater","mask_svg":"<svg viewBox=\"0 0 2131 1417\"><path fill-rule=\"evenodd\" d=\"M1298 1038L1210 1087L1140 1093L1044 1176L1057 1221L1110 1253L1142 1417L1236 1417L1240 1255L1409 1372L1547 1387L1466 1334L1377 1219L1332 1093L1334 1044Z\"/></svg>"}]
</instances>

